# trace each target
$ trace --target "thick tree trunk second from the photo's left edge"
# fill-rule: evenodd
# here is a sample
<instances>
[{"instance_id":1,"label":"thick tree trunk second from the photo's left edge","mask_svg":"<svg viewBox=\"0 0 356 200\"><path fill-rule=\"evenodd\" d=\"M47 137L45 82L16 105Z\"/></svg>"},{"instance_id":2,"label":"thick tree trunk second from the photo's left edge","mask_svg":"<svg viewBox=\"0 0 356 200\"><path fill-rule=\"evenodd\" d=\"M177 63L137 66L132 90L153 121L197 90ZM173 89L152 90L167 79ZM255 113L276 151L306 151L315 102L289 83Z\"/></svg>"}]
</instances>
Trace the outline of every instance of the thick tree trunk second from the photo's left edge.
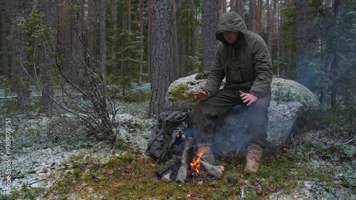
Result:
<instances>
[{"instance_id":1,"label":"thick tree trunk second from the photo's left edge","mask_svg":"<svg viewBox=\"0 0 356 200\"><path fill-rule=\"evenodd\" d=\"M25 1L13 0L12 10L12 21L25 18ZM28 75L26 67L23 65L23 60L26 60L24 47L25 41L23 41L22 33L19 27L13 23L11 28L11 77L17 95L17 107L21 111L28 107L30 96Z\"/></svg>"}]
</instances>

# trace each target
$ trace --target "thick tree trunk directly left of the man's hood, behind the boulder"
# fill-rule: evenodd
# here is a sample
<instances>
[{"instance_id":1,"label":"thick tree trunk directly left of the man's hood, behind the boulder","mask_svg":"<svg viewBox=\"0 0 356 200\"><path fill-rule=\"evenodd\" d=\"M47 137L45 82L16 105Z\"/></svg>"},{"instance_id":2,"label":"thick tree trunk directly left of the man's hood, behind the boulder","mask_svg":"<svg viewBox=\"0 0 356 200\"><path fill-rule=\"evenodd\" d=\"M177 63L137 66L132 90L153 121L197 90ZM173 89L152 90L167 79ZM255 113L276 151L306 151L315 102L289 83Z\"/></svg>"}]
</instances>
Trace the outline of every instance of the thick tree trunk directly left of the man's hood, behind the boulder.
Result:
<instances>
[{"instance_id":1,"label":"thick tree trunk directly left of the man's hood, behind the boulder","mask_svg":"<svg viewBox=\"0 0 356 200\"><path fill-rule=\"evenodd\" d=\"M219 20L219 4L217 1L203 1L201 21L203 40L203 70L210 70L216 51L215 31Z\"/></svg>"}]
</instances>

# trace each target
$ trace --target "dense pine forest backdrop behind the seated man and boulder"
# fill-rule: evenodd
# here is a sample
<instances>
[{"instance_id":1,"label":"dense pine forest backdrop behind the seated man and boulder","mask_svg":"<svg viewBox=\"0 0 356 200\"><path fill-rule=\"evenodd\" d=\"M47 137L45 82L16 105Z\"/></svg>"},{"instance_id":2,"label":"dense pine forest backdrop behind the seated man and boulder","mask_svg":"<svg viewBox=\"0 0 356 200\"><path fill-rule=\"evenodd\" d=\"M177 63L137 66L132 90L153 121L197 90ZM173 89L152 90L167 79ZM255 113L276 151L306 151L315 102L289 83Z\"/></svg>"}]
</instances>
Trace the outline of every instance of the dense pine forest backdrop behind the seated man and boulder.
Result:
<instances>
[{"instance_id":1,"label":"dense pine forest backdrop behind the seated man and boulder","mask_svg":"<svg viewBox=\"0 0 356 200\"><path fill-rule=\"evenodd\" d=\"M226 11L263 37L274 75L305 85L321 110L356 106L355 0L1 0L1 88L19 110L36 88L41 112L66 88L103 119L108 85L125 96L151 83L148 113L158 115L174 80L209 70Z\"/></svg>"}]
</instances>

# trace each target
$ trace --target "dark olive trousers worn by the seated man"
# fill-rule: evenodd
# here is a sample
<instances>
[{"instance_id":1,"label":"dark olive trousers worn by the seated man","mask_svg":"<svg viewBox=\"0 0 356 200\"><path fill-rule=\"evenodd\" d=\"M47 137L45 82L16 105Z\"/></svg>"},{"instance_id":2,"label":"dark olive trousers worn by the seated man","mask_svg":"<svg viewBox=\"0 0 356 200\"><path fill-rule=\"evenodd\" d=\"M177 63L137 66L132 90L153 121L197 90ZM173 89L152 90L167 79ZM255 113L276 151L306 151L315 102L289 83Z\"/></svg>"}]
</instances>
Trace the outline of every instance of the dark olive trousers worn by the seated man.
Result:
<instances>
[{"instance_id":1,"label":"dark olive trousers worn by the seated man","mask_svg":"<svg viewBox=\"0 0 356 200\"><path fill-rule=\"evenodd\" d=\"M219 90L218 93L208 100L199 100L194 105L194 137L197 142L212 140L214 133L214 122L236 105L245 105L242 102L239 91ZM269 97L259 98L248 106L248 127L246 130L246 142L258 144L266 148L267 144L267 109Z\"/></svg>"}]
</instances>

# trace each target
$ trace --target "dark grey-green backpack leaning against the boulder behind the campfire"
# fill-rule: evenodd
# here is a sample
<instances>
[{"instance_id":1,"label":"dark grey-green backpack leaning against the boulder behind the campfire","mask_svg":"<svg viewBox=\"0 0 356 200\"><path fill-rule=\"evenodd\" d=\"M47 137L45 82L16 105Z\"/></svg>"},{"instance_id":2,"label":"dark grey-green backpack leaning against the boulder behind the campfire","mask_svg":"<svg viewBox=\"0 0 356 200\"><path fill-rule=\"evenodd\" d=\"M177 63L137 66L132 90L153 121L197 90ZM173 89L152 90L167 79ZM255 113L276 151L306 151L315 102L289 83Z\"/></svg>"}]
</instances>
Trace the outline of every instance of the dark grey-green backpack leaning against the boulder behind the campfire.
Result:
<instances>
[{"instance_id":1,"label":"dark grey-green backpack leaning against the boulder behind the campfire","mask_svg":"<svg viewBox=\"0 0 356 200\"><path fill-rule=\"evenodd\" d=\"M174 151L185 142L184 130L189 125L191 113L186 110L162 112L147 142L147 154L159 161L170 159L173 154L177 154L177 151Z\"/></svg>"}]
</instances>

